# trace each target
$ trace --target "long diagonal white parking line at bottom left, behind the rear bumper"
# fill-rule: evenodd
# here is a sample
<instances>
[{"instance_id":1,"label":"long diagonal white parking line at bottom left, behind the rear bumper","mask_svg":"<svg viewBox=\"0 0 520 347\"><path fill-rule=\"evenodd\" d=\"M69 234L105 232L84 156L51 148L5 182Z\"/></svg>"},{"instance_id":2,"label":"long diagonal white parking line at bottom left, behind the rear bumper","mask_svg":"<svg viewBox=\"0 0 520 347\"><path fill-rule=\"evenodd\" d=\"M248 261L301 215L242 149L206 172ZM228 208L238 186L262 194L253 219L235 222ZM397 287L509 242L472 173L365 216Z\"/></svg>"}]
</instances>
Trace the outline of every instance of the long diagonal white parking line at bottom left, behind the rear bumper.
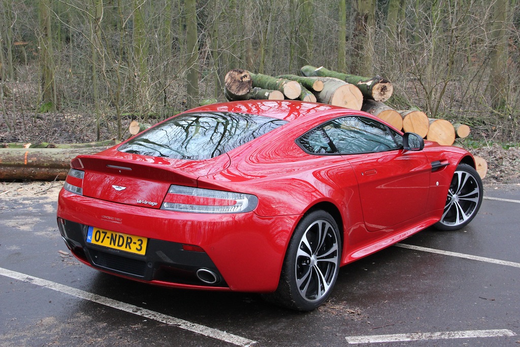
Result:
<instances>
[{"instance_id":1,"label":"long diagonal white parking line at bottom left, behind the rear bumper","mask_svg":"<svg viewBox=\"0 0 520 347\"><path fill-rule=\"evenodd\" d=\"M200 325L197 323L191 323L184 319L175 318L172 316L168 316L162 314L160 312L155 312L151 310L144 309L139 306L127 304L125 302L113 300L110 298L102 297L101 295L90 293L81 289L76 289L73 287L61 285L56 282L52 282L43 278L33 277L26 274L22 274L16 271L11 271L5 268L0 267L0 275L18 279L23 282L29 282L34 285L45 287L48 289L56 290L65 294L72 295L73 297L85 299L88 301L96 302L101 305L105 305L108 307L112 307L113 309L132 313L141 317L146 317L149 319L157 320L158 322L165 323L168 325L176 326L180 329L196 332L200 335L204 335L207 337L211 337L220 341L229 342L238 346L248 347L252 344L256 343L256 341L249 340L243 338L241 336L233 335L231 333L221 331L218 329L213 329L210 327L206 327L204 325Z\"/></svg>"}]
</instances>

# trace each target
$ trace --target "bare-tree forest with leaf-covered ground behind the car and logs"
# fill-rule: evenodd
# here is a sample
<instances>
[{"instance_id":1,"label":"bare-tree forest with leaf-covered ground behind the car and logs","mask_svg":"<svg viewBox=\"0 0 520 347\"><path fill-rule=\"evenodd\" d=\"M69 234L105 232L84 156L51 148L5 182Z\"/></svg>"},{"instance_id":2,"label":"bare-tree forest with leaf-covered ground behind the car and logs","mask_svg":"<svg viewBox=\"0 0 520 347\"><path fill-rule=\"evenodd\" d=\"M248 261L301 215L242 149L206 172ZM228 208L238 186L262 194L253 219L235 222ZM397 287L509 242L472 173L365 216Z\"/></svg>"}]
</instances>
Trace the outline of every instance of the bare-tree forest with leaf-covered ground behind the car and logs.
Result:
<instances>
[{"instance_id":1,"label":"bare-tree forest with leaf-covered ground behind the car and logs","mask_svg":"<svg viewBox=\"0 0 520 347\"><path fill-rule=\"evenodd\" d=\"M386 104L520 142L516 0L0 0L0 142L124 139L224 76L304 65L394 85Z\"/></svg>"}]
</instances>

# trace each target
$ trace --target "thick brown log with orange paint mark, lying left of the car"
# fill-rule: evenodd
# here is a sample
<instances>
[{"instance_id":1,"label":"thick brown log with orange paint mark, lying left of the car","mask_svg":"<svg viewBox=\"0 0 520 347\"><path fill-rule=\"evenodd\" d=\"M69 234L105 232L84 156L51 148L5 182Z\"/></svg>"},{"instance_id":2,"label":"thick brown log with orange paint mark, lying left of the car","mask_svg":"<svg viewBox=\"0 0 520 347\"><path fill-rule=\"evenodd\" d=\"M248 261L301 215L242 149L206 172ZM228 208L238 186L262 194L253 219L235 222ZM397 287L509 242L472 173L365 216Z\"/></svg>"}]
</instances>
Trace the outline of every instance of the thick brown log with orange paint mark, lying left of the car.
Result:
<instances>
[{"instance_id":1,"label":"thick brown log with orange paint mark, lying left of the car","mask_svg":"<svg viewBox=\"0 0 520 347\"><path fill-rule=\"evenodd\" d=\"M70 161L78 155L94 154L108 147L90 148L0 148L0 180L64 179Z\"/></svg>"}]
</instances>

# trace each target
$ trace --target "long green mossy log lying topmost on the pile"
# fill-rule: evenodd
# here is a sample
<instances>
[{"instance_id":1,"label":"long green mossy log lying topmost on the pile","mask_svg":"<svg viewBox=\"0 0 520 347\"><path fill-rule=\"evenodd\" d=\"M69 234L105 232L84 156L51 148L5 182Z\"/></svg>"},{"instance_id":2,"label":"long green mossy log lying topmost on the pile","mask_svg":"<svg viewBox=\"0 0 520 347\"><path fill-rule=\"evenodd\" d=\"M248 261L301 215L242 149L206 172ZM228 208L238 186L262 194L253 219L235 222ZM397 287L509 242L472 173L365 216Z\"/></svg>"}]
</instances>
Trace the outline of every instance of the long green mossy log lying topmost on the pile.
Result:
<instances>
[{"instance_id":1,"label":"long green mossy log lying topmost on the pile","mask_svg":"<svg viewBox=\"0 0 520 347\"><path fill-rule=\"evenodd\" d=\"M392 83L382 78L381 76L367 78L362 76L349 75L337 71L331 71L324 67L316 68L310 65L302 67L301 72L304 76L333 77L347 83L354 84L360 89L365 98L375 101L384 102L388 100L394 92L394 86Z\"/></svg>"}]
</instances>

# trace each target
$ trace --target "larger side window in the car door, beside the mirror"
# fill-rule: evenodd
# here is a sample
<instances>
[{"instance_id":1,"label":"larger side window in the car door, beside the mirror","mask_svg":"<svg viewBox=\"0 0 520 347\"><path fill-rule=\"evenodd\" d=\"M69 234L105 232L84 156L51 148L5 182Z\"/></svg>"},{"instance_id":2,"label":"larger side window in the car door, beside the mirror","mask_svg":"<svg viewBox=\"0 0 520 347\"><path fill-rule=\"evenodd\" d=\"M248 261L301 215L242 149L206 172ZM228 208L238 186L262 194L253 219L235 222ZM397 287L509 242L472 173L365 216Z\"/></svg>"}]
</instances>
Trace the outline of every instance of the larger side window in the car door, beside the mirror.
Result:
<instances>
[{"instance_id":1,"label":"larger side window in the car door, beside the mirror","mask_svg":"<svg viewBox=\"0 0 520 347\"><path fill-rule=\"evenodd\" d=\"M323 125L323 130L340 154L381 152L401 147L398 133L394 138L386 125L370 118L351 116L335 119Z\"/></svg>"}]
</instances>

